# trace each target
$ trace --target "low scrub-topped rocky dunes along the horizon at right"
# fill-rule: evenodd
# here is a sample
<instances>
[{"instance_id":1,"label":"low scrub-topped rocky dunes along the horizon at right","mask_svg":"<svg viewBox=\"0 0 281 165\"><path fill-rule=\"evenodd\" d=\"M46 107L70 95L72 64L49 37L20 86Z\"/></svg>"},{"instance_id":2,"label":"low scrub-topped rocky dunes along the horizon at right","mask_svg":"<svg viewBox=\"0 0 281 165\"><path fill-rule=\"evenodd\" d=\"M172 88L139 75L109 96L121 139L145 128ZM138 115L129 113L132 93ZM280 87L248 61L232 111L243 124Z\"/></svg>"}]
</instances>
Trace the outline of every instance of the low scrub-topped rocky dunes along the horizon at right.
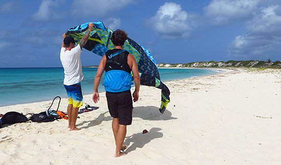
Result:
<instances>
[{"instance_id":1,"label":"low scrub-topped rocky dunes along the horizon at right","mask_svg":"<svg viewBox=\"0 0 281 165\"><path fill-rule=\"evenodd\" d=\"M281 61L258 61L258 60L249 60L249 61L201 61L201 62L189 62L189 63L160 63L157 64L158 67L269 67L269 68L281 68Z\"/></svg>"}]
</instances>

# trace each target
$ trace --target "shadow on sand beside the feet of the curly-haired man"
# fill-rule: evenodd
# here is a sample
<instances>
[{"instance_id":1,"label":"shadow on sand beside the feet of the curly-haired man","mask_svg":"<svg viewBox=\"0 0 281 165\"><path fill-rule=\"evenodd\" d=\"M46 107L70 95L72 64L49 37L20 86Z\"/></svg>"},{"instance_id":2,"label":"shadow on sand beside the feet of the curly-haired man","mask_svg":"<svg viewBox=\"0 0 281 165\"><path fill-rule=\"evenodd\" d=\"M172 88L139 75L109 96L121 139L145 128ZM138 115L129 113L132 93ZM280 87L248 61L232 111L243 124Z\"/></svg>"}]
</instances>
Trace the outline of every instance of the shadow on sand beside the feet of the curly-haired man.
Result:
<instances>
[{"instance_id":1,"label":"shadow on sand beside the feet of the curly-haired man","mask_svg":"<svg viewBox=\"0 0 281 165\"><path fill-rule=\"evenodd\" d=\"M136 148L143 148L146 144L148 144L151 140L155 138L163 137L163 133L158 132L161 128L151 128L147 133L143 134L134 133L131 136L127 136L124 141L124 145L129 146L130 143L133 143L130 147L128 147L125 152L134 151Z\"/></svg>"}]
</instances>

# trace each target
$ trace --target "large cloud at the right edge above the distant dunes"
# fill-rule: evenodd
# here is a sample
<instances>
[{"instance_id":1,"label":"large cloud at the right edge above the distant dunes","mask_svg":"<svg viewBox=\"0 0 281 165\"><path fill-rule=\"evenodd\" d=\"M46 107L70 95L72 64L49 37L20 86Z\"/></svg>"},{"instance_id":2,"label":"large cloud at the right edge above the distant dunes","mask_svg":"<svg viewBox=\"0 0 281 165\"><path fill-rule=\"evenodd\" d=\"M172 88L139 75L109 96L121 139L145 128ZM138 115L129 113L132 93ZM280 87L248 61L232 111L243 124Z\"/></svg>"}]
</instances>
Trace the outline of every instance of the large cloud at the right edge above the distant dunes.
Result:
<instances>
[{"instance_id":1,"label":"large cloud at the right edge above the distant dunes","mask_svg":"<svg viewBox=\"0 0 281 165\"><path fill-rule=\"evenodd\" d=\"M247 34L238 35L229 46L232 56L263 56L281 46L281 11L278 6L261 8L247 22ZM279 12L280 13L280 12Z\"/></svg>"}]
</instances>

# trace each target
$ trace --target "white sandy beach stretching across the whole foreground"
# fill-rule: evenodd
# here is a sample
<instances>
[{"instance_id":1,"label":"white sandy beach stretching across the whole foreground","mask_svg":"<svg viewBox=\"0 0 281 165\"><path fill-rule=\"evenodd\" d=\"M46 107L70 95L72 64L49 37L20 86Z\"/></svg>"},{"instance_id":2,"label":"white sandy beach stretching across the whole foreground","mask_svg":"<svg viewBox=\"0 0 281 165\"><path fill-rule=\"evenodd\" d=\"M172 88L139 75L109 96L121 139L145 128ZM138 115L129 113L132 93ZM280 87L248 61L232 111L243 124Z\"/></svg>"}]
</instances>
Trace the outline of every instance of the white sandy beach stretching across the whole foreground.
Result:
<instances>
[{"instance_id":1,"label":"white sandy beach stretching across the whole foreground","mask_svg":"<svg viewBox=\"0 0 281 165\"><path fill-rule=\"evenodd\" d=\"M1 164L281 164L281 70L233 72L166 82L171 103L160 114L160 90L141 86L125 144L114 158L105 93L98 110L67 121L20 123L0 129ZM41 112L52 101L0 107L0 113ZM66 111L63 98L60 110ZM147 129L149 132L143 134Z\"/></svg>"}]
</instances>

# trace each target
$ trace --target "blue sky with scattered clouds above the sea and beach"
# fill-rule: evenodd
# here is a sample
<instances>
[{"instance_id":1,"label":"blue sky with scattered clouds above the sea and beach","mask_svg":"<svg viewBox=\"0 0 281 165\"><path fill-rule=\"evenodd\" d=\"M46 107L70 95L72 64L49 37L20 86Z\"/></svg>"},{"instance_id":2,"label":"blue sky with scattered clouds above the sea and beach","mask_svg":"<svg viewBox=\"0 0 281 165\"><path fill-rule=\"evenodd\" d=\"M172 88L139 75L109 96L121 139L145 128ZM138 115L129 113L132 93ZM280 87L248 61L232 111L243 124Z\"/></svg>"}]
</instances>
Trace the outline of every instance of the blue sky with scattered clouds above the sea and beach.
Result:
<instances>
[{"instance_id":1,"label":"blue sky with scattered clouds above the sea and beach","mask_svg":"<svg viewBox=\"0 0 281 165\"><path fill-rule=\"evenodd\" d=\"M102 21L156 63L281 60L280 0L1 0L0 67L62 67L61 35ZM83 66L101 60L83 50Z\"/></svg>"}]
</instances>

